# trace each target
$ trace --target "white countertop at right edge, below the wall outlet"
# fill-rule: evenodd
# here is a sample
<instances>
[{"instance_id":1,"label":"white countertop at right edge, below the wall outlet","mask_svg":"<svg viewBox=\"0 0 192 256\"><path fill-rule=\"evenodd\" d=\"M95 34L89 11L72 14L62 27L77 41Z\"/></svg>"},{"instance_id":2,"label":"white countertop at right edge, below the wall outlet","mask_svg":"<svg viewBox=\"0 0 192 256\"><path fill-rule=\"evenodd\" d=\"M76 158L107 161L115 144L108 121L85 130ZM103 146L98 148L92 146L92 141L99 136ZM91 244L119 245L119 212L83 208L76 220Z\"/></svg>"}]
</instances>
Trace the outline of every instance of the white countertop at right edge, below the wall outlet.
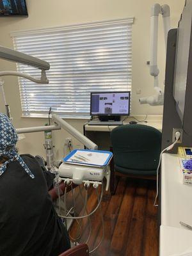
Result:
<instances>
[{"instance_id":1,"label":"white countertop at right edge, below the wall outlet","mask_svg":"<svg viewBox=\"0 0 192 256\"><path fill-rule=\"evenodd\" d=\"M181 253L192 247L192 186L182 184L179 157L164 153L161 164L160 256Z\"/></svg>"}]
</instances>

